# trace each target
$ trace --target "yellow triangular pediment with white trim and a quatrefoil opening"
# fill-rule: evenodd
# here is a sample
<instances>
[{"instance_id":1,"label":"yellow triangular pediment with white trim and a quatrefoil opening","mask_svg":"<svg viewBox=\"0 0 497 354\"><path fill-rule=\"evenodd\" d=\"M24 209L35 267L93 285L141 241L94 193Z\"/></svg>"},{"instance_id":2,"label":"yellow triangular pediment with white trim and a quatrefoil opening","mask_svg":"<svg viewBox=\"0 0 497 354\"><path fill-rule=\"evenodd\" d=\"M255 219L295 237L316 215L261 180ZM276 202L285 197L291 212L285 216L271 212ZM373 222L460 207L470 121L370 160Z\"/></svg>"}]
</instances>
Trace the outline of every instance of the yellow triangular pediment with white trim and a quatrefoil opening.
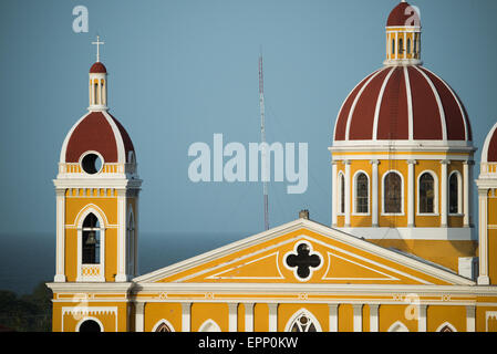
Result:
<instances>
[{"instance_id":1,"label":"yellow triangular pediment with white trim and a quatrefoil opening","mask_svg":"<svg viewBox=\"0 0 497 354\"><path fill-rule=\"evenodd\" d=\"M298 219L155 272L137 283L473 284L452 271Z\"/></svg>"}]
</instances>

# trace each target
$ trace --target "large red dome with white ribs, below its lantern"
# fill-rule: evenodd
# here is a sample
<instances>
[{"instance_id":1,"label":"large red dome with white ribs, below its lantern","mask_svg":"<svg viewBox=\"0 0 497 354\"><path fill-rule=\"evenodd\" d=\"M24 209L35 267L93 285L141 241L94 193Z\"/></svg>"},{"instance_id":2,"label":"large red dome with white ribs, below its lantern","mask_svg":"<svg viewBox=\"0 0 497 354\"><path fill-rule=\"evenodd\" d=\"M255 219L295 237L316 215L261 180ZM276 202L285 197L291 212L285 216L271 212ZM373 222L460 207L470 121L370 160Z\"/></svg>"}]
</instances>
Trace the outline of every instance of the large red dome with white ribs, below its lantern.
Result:
<instances>
[{"instance_id":1,"label":"large red dome with white ribs, below its lantern","mask_svg":"<svg viewBox=\"0 0 497 354\"><path fill-rule=\"evenodd\" d=\"M349 94L340 108L334 142L470 142L466 110L454 91L417 65L384 66Z\"/></svg>"}]
</instances>

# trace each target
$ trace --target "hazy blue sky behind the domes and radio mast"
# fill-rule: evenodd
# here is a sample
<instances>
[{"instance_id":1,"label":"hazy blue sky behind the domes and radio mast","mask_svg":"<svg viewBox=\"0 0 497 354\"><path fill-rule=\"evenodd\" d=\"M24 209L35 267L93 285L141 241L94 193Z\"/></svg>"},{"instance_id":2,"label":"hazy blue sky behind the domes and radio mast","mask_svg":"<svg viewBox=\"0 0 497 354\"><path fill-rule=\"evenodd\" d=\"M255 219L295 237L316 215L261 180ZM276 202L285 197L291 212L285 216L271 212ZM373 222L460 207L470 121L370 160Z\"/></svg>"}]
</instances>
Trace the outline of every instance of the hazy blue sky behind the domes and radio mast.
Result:
<instances>
[{"instance_id":1,"label":"hazy blue sky behind the domes and radio mast","mask_svg":"<svg viewBox=\"0 0 497 354\"><path fill-rule=\"evenodd\" d=\"M77 6L87 33L72 30ZM55 229L60 148L86 112L96 33L108 103L130 133L142 232L262 229L261 184L194 184L191 143L258 142L258 55L265 56L267 139L309 144L309 188L269 188L270 225L302 208L330 225L331 145L348 93L384 60L393 0L25 1L0 3L0 233ZM426 67L464 102L478 152L497 121L497 1L420 0ZM475 166L475 177L479 165ZM476 211L476 210L475 210Z\"/></svg>"}]
</instances>

